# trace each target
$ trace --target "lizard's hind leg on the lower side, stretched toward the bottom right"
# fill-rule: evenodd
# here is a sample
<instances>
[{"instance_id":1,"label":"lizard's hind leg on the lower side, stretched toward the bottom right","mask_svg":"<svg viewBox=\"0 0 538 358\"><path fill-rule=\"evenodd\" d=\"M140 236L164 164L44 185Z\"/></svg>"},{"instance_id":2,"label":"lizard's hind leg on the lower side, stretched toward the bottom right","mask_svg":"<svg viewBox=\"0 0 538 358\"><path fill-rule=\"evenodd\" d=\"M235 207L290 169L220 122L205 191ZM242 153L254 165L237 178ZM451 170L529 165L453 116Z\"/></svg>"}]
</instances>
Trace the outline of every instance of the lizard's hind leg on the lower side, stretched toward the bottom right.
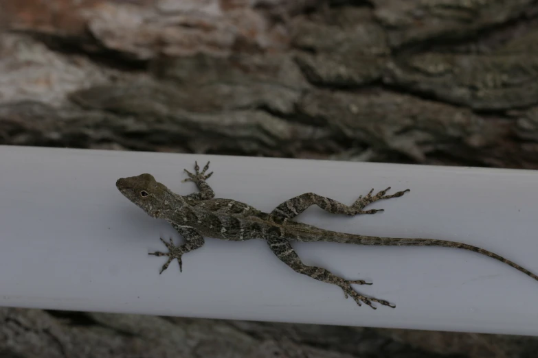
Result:
<instances>
[{"instance_id":1,"label":"lizard's hind leg on the lower side, stretched toward the bottom right","mask_svg":"<svg viewBox=\"0 0 538 358\"><path fill-rule=\"evenodd\" d=\"M392 308L396 307L394 305L391 305L388 301L378 300L377 298L363 296L359 294L357 291L355 291L353 287L351 287L353 283L357 285L372 285L371 283L366 283L366 281L363 281L363 280L356 280L356 281L346 280L344 278L336 276L335 274L324 269L323 267L305 265L304 263L302 263L297 252L293 250L293 248L291 247L291 243L289 243L287 239L269 238L267 239L267 243L269 243L269 248L271 248L271 251L273 251L274 254L276 254L278 259L286 263L295 272L304 274L306 276L310 276L311 278L314 278L317 281L322 281L325 283L331 283L333 285L337 285L342 290L344 290L344 294L346 295L346 298L348 298L348 296L351 296L353 300L355 300L355 302L357 302L357 305L359 306L361 306L361 302L364 302L366 303L366 305L372 307L372 309L377 309L376 307L372 305L372 302L378 302L379 304L383 306L388 306Z\"/></svg>"}]
</instances>

